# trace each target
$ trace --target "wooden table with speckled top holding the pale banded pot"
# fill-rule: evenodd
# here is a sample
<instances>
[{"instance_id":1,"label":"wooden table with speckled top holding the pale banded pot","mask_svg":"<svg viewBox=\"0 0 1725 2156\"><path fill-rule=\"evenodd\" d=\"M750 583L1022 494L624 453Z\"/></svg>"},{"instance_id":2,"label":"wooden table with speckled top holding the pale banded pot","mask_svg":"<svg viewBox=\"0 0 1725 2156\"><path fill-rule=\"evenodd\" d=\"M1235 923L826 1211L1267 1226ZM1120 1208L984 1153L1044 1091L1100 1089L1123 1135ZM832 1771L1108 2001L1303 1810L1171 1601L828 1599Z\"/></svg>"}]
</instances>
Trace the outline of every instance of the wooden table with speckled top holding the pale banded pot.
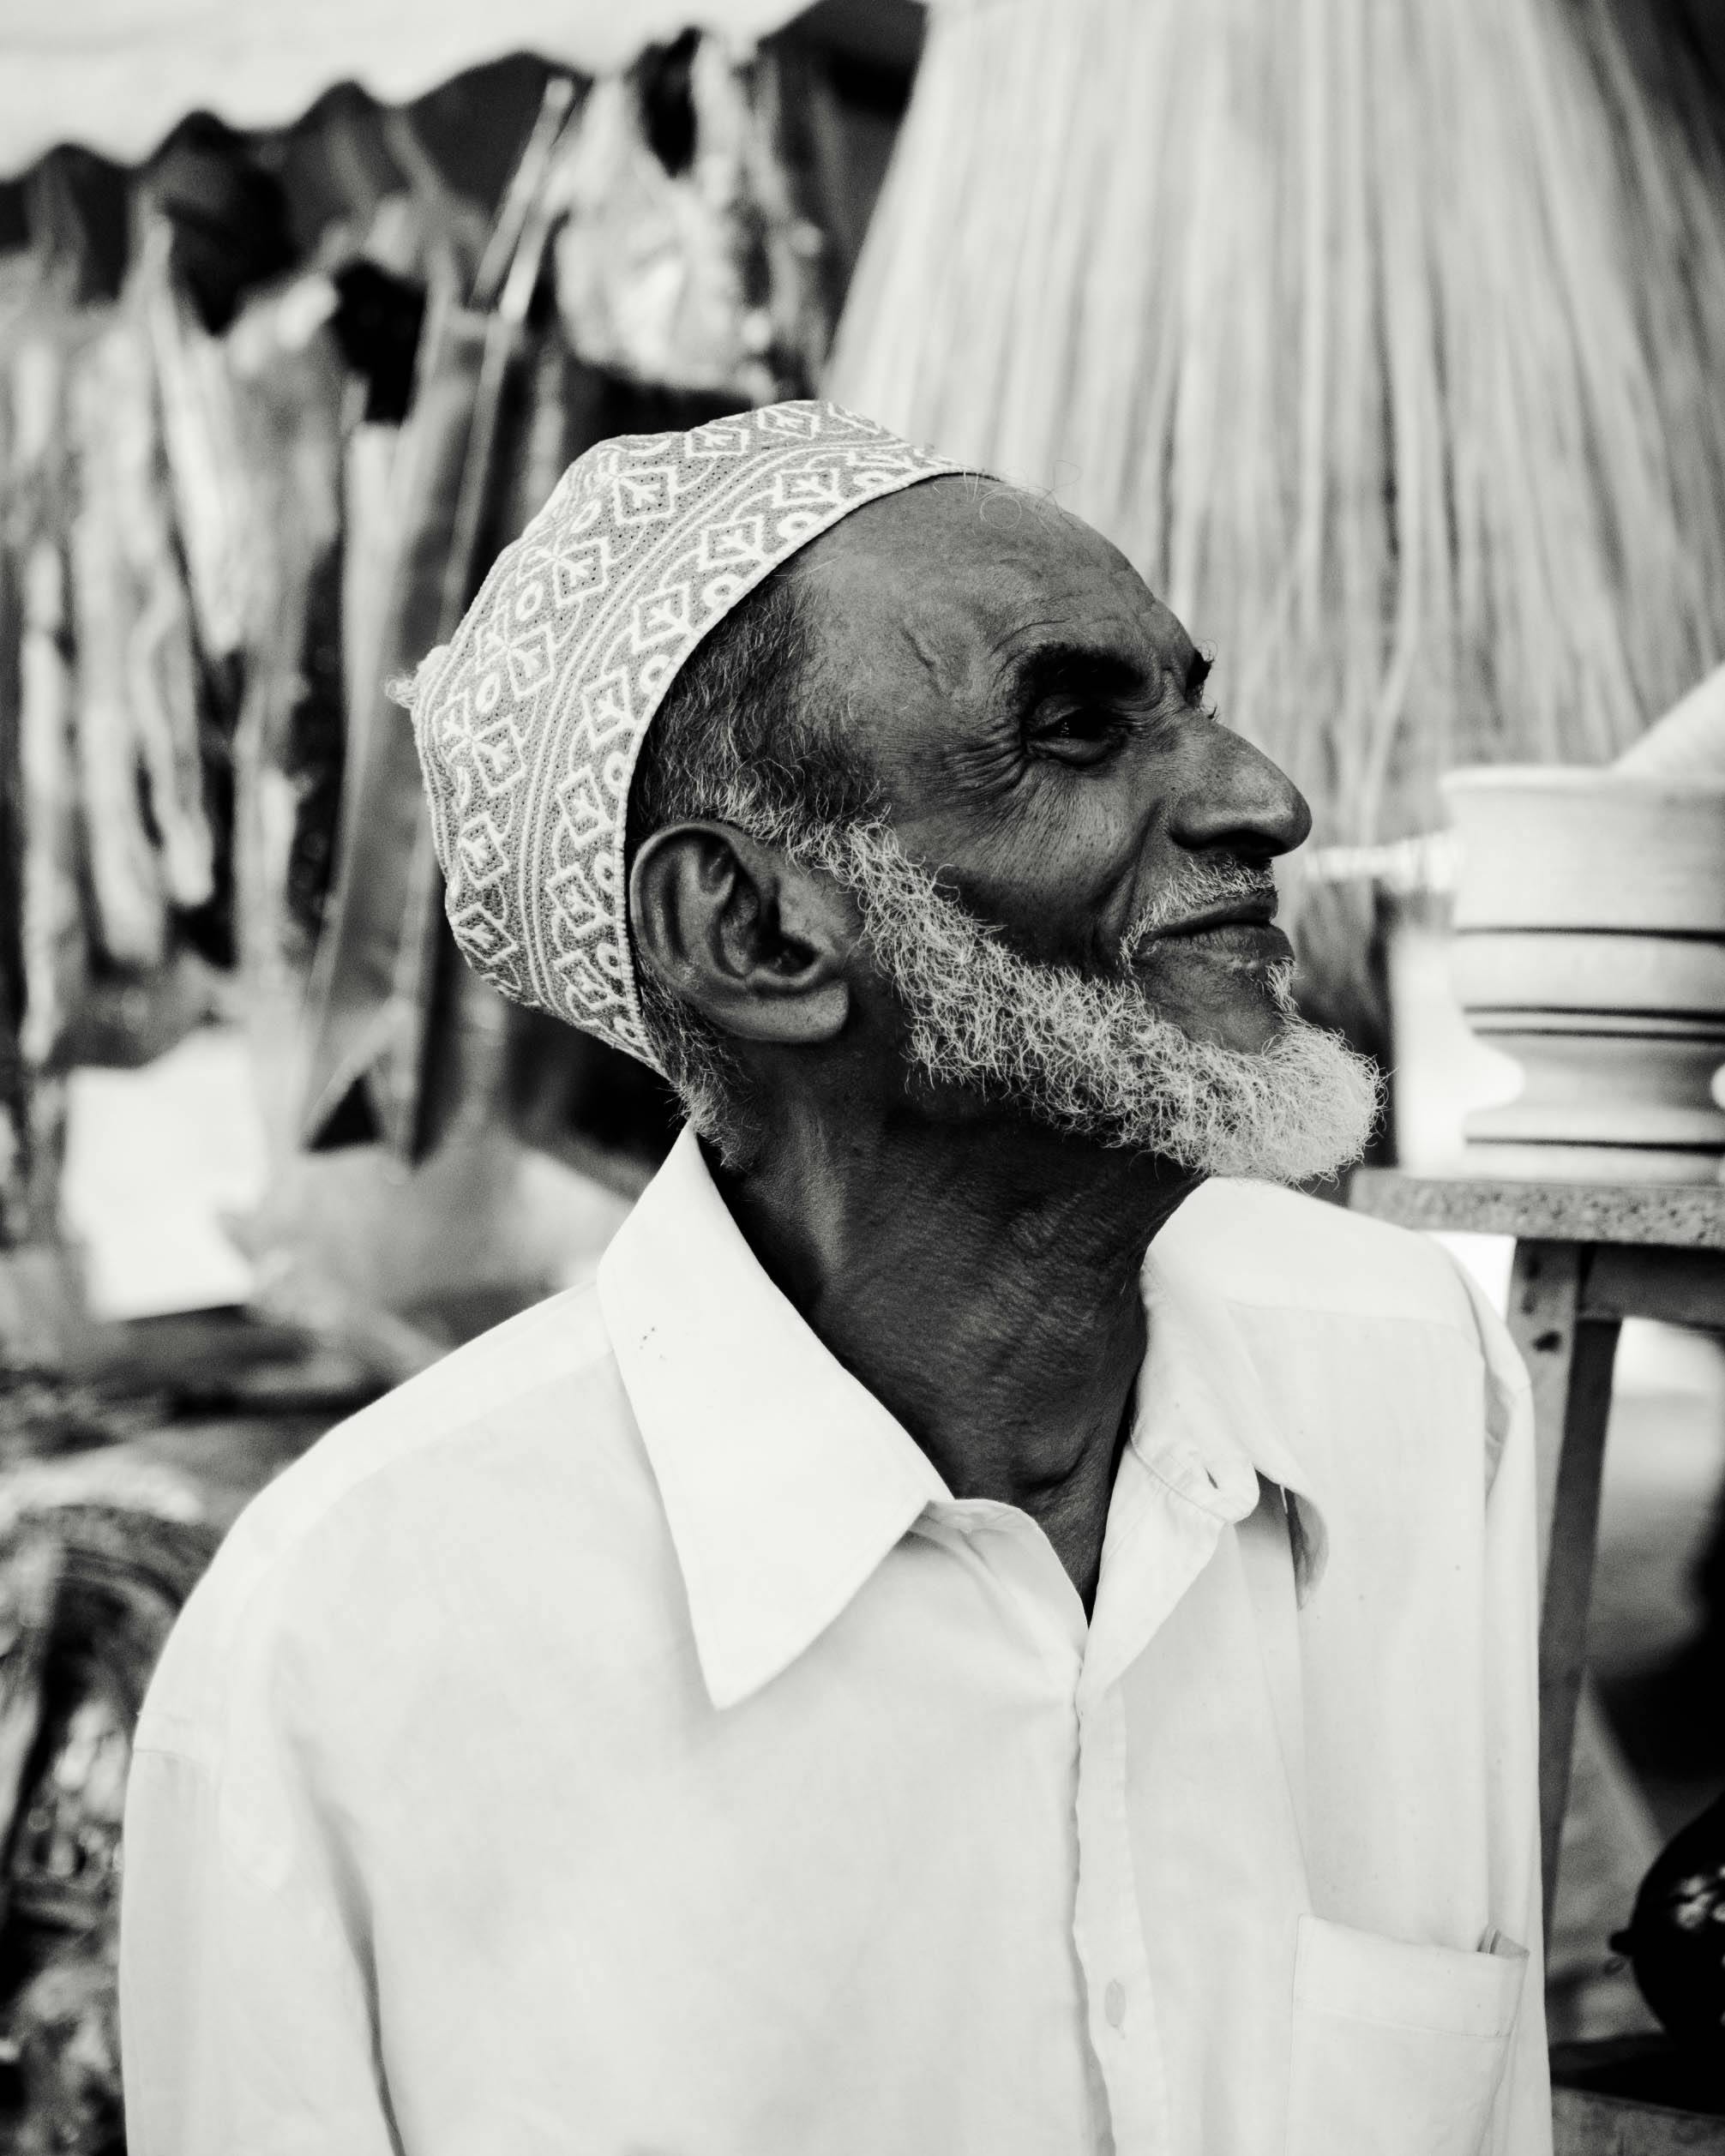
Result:
<instances>
[{"instance_id":1,"label":"wooden table with speckled top holding the pale banded pot","mask_svg":"<svg viewBox=\"0 0 1725 2156\"><path fill-rule=\"evenodd\" d=\"M1611 1365L1626 1317L1725 1332L1725 1186L1520 1184L1361 1169L1356 1212L1402 1227L1514 1235L1509 1330L1533 1380L1540 1479L1540 1833L1546 1936L1570 1800L1600 1524ZM1559 2156L1725 2152L1725 2119L1559 2091ZM1583 2117L1587 2113L1587 2117ZM1660 2124L1662 2122L1662 2124ZM1678 2122L1678 2124L1673 2124ZM1671 2139L1671 2134L1680 2134Z\"/></svg>"}]
</instances>

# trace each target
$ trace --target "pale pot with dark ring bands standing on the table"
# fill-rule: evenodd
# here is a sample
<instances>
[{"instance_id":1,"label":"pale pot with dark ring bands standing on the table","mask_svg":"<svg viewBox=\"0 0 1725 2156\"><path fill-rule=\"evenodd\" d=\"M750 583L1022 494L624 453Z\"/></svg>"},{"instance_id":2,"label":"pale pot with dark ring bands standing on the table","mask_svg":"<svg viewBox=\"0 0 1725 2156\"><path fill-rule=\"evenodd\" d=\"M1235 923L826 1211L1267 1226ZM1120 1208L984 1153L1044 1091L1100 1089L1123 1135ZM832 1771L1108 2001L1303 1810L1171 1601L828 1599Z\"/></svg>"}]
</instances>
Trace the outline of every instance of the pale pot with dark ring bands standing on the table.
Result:
<instances>
[{"instance_id":1,"label":"pale pot with dark ring bands standing on the table","mask_svg":"<svg viewBox=\"0 0 1725 2156\"><path fill-rule=\"evenodd\" d=\"M1443 785L1455 990L1524 1076L1464 1125L1479 1173L1714 1181L1725 780L1479 765Z\"/></svg>"}]
</instances>

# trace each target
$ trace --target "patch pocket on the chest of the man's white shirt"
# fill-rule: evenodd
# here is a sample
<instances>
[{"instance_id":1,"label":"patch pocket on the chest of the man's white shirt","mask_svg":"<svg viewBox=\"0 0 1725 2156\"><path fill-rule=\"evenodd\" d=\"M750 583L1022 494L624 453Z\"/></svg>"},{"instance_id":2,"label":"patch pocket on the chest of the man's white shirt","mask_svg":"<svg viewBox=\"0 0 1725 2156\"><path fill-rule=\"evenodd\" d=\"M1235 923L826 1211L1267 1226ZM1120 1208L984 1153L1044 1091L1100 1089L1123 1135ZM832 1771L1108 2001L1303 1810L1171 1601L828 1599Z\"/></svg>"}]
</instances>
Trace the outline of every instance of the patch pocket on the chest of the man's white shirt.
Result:
<instances>
[{"instance_id":1,"label":"patch pocket on the chest of the man's white shirt","mask_svg":"<svg viewBox=\"0 0 1725 2156\"><path fill-rule=\"evenodd\" d=\"M1300 1917L1287 2156L1479 2156L1524 1973Z\"/></svg>"}]
</instances>

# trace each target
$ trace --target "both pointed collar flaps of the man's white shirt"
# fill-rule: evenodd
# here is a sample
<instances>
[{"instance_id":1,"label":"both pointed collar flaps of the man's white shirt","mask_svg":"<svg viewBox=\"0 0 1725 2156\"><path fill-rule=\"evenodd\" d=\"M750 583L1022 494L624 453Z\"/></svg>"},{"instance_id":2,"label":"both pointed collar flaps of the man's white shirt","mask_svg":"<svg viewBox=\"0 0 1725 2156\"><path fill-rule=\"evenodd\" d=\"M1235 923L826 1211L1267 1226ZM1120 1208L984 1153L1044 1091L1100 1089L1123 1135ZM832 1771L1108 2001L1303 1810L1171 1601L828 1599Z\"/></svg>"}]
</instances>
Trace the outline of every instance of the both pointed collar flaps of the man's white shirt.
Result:
<instances>
[{"instance_id":1,"label":"both pointed collar flaps of the man's white shirt","mask_svg":"<svg viewBox=\"0 0 1725 2156\"><path fill-rule=\"evenodd\" d=\"M1300 1501L1300 1598L1322 1518L1281 1440L1248 1341L1192 1259L1188 1199L1145 1263L1149 1354L1132 1447L1225 1520L1257 1477ZM1177 1233L1175 1233L1177 1231ZM660 1485L716 1708L770 1684L841 1615L923 1507L951 1492L906 1427L822 1345L677 1138L599 1261L599 1304ZM1106 1546L1104 1546L1106 1565Z\"/></svg>"}]
</instances>

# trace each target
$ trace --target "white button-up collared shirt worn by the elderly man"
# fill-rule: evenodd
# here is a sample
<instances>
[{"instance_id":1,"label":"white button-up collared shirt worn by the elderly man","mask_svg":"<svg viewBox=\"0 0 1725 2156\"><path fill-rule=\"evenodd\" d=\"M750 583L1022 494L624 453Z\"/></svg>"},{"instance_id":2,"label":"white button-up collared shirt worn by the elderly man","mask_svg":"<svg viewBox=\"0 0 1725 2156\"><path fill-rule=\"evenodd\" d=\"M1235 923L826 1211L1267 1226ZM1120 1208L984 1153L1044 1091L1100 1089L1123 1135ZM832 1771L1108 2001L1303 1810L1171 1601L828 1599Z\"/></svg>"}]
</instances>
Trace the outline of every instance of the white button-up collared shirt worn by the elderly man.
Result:
<instances>
[{"instance_id":1,"label":"white button-up collared shirt worn by the elderly man","mask_svg":"<svg viewBox=\"0 0 1725 2156\"><path fill-rule=\"evenodd\" d=\"M1544 2156L1514 1350L1251 1184L1145 1296L1089 1623L688 1136L323 1438L138 1727L134 2156Z\"/></svg>"}]
</instances>

